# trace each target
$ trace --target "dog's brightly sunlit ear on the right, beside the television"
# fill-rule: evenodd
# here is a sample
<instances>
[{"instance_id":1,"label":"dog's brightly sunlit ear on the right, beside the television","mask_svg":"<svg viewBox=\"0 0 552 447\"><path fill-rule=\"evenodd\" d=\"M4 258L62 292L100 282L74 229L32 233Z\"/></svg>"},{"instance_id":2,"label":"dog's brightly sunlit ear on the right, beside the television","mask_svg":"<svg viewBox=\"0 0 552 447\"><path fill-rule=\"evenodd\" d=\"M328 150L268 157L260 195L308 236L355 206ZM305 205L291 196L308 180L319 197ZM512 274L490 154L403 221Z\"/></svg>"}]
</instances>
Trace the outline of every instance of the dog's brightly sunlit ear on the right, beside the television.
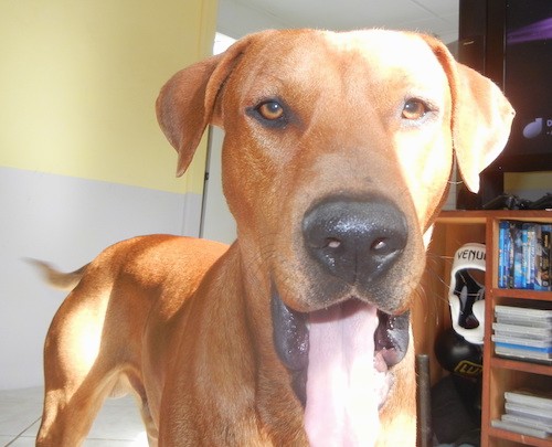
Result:
<instances>
[{"instance_id":1,"label":"dog's brightly sunlit ear on the right, beside the television","mask_svg":"<svg viewBox=\"0 0 552 447\"><path fill-rule=\"evenodd\" d=\"M439 60L453 99L453 146L468 189L479 191L479 173L502 151L510 136L514 110L487 77L457 63L437 39L424 36Z\"/></svg>"}]
</instances>

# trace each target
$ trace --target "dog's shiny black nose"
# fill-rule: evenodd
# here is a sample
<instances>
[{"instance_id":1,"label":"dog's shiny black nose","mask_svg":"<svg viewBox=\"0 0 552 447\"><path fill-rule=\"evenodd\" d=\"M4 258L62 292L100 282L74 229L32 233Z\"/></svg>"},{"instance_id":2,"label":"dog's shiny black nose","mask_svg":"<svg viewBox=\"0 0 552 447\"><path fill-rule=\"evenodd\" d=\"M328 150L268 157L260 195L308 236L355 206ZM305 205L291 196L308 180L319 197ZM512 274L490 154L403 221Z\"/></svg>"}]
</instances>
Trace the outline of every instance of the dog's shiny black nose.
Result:
<instances>
[{"instance_id":1,"label":"dog's shiny black nose","mask_svg":"<svg viewBox=\"0 0 552 447\"><path fill-rule=\"evenodd\" d=\"M385 274L406 246L407 226L399 207L383 198L327 199L302 221L308 253L348 284Z\"/></svg>"}]
</instances>

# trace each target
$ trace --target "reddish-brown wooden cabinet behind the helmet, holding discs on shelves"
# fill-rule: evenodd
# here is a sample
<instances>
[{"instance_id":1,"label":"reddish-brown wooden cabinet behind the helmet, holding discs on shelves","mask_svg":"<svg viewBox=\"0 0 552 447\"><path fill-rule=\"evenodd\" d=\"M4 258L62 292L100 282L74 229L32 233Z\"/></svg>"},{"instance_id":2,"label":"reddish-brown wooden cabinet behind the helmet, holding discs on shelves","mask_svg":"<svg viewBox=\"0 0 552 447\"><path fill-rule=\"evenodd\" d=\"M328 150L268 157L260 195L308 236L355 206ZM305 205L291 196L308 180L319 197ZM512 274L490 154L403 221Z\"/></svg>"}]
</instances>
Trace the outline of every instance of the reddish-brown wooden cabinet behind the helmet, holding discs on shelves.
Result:
<instances>
[{"instance_id":1,"label":"reddish-brown wooden cabinet behind the helmet, holding discs on shelves","mask_svg":"<svg viewBox=\"0 0 552 447\"><path fill-rule=\"evenodd\" d=\"M442 327L449 326L448 283L453 256L457 248L467 242L486 244L485 275L485 344L484 344L484 385L481 414L481 446L540 446L552 447L552 439L540 439L498 429L491 421L503 413L506 391L520 386L539 386L552 391L552 366L526 361L500 358L495 354L491 341L495 306L516 306L520 302L538 302L552 309L552 292L498 288L498 228L500 221L521 221L552 223L552 212L546 211L444 211L439 215L434 240L429 246L427 268L423 280L423 299L413 311L414 336L418 352L433 353L434 336ZM432 333L422 319L434 322ZM432 339L433 337L433 339ZM432 381L443 374L436 360L432 361Z\"/></svg>"}]
</instances>

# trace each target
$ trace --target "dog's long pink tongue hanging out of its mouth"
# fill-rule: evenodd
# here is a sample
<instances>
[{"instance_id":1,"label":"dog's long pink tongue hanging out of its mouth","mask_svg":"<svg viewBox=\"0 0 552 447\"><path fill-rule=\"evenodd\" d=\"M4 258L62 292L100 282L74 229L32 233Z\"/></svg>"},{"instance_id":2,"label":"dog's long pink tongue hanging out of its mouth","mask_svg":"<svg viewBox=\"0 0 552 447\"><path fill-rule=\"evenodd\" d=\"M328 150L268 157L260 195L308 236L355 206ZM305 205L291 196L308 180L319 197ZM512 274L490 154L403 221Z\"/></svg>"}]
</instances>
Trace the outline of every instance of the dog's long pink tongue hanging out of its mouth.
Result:
<instances>
[{"instance_id":1,"label":"dog's long pink tongue hanging out of its mouth","mask_svg":"<svg viewBox=\"0 0 552 447\"><path fill-rule=\"evenodd\" d=\"M384 373L374 369L375 307L350 301L314 312L309 321L305 429L310 445L373 446L386 393Z\"/></svg>"}]
</instances>

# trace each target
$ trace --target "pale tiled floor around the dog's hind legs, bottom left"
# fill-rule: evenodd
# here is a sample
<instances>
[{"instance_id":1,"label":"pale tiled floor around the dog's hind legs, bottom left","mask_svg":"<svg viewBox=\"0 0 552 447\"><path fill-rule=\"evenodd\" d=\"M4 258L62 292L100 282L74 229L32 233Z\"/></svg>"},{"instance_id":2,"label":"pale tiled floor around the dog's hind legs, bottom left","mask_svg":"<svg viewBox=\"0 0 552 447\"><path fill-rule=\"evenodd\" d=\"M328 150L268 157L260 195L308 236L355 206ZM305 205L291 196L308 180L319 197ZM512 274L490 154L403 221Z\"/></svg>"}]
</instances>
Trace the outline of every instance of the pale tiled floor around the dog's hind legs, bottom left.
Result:
<instances>
[{"instance_id":1,"label":"pale tiled floor around the dog's hind legs, bottom left","mask_svg":"<svg viewBox=\"0 0 552 447\"><path fill-rule=\"evenodd\" d=\"M0 446L34 446L42 393L40 387L0 391ZM84 445L146 447L146 433L132 397L107 400Z\"/></svg>"}]
</instances>

